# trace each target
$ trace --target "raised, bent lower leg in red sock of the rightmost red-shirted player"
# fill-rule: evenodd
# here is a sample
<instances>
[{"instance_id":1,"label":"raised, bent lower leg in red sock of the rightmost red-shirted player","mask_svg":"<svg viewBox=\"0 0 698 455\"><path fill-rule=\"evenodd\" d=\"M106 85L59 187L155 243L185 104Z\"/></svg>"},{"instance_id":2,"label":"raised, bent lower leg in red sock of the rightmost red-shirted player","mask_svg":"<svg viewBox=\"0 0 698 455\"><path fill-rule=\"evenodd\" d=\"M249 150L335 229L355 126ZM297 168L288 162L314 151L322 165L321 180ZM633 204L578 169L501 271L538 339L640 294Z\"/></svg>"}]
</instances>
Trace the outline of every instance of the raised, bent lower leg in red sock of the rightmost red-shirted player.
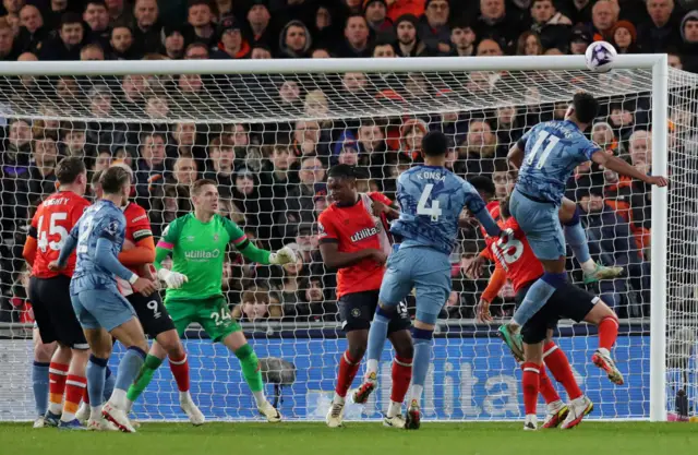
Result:
<instances>
[{"instance_id":1,"label":"raised, bent lower leg in red sock of the rightmost red-shirted player","mask_svg":"<svg viewBox=\"0 0 698 455\"><path fill-rule=\"evenodd\" d=\"M587 318L585 318L585 322L599 327L599 348L591 357L591 361L606 372L612 383L623 385L625 382L623 373L621 373L611 357L611 349L618 337L618 318L615 312L599 299L593 309L587 314Z\"/></svg>"}]
</instances>

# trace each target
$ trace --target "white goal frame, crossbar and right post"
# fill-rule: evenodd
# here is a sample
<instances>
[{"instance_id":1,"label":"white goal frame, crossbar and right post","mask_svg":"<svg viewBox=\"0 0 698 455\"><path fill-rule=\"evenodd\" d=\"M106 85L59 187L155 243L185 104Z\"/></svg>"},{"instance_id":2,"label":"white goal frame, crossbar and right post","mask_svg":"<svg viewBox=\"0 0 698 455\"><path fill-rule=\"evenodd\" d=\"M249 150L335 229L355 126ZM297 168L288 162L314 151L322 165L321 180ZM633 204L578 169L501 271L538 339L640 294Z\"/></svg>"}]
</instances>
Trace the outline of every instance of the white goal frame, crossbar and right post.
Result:
<instances>
[{"instance_id":1,"label":"white goal frame, crossbar and right post","mask_svg":"<svg viewBox=\"0 0 698 455\"><path fill-rule=\"evenodd\" d=\"M617 56L614 70L652 71L652 125L667 124L669 65L666 55ZM156 60L156 61L40 61L3 62L0 76L155 75L155 74L291 74L291 73L407 73L414 71L571 71L587 70L583 56L438 57L397 59L308 60ZM652 128L652 171L667 172L666 128ZM667 190L652 188L650 421L666 420L666 266Z\"/></svg>"}]
</instances>

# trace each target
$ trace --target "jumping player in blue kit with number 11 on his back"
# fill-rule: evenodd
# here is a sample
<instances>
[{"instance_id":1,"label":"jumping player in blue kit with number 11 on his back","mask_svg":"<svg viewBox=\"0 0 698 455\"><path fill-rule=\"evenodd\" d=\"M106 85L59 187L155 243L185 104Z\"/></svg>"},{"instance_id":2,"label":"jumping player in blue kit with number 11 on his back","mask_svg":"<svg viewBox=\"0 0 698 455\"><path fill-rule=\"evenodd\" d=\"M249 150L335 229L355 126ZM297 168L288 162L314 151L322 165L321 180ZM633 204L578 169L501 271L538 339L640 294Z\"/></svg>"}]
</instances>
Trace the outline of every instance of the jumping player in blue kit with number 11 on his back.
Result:
<instances>
[{"instance_id":1,"label":"jumping player in blue kit with number 11 on his back","mask_svg":"<svg viewBox=\"0 0 698 455\"><path fill-rule=\"evenodd\" d=\"M563 194L565 183L575 167L592 160L622 176L642 180L648 184L667 184L664 177L640 172L623 159L607 154L583 135L583 131L592 123L598 111L599 103L592 95L578 93L574 96L564 121L554 120L537 124L509 151L509 163L519 169L519 179L512 193L509 211L526 234L533 253L543 263L545 271L527 292L512 322L500 327L504 340L515 355L521 354L519 328L543 308L555 289L564 286L567 280L565 239L586 275L609 277L603 276L604 271L599 270L599 265L589 255L577 207L574 206L571 216L564 219L563 212L569 212L569 205L574 204L564 200ZM565 225L564 232L561 219Z\"/></svg>"}]
</instances>

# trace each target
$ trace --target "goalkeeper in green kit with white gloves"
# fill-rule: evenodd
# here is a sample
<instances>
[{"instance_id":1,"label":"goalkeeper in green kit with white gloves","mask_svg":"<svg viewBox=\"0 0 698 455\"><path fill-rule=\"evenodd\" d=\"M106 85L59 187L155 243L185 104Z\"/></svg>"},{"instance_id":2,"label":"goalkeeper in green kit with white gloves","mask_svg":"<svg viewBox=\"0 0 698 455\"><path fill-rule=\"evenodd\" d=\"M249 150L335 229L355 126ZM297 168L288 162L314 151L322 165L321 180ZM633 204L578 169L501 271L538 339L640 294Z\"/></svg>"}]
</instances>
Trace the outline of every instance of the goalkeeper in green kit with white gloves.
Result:
<instances>
[{"instance_id":1,"label":"goalkeeper in green kit with white gloves","mask_svg":"<svg viewBox=\"0 0 698 455\"><path fill-rule=\"evenodd\" d=\"M222 264L229 243L246 259L261 264L294 262L296 254L289 248L276 253L257 249L242 229L218 215L218 189L213 180L195 181L191 197L194 212L173 220L156 246L155 268L167 284L165 307L180 336L196 322L214 343L222 343L236 355L260 414L270 422L278 422L281 415L264 395L257 356L228 311L221 290ZM161 265L168 255L172 256L171 271ZM143 393L166 357L167 352L153 343L139 378L129 388L130 404Z\"/></svg>"}]
</instances>

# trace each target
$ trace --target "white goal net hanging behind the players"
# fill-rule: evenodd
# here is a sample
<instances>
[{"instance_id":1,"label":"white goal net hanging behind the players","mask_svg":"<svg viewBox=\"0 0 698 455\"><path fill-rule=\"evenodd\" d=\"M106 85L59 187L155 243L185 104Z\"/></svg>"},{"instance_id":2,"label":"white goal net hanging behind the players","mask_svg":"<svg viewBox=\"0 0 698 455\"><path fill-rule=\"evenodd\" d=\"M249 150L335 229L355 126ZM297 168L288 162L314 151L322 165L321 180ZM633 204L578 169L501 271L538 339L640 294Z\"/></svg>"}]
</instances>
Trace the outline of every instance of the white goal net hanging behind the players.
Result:
<instances>
[{"instance_id":1,"label":"white goal net hanging behind the players","mask_svg":"<svg viewBox=\"0 0 698 455\"><path fill-rule=\"evenodd\" d=\"M698 327L697 84L696 75L670 72L667 396L672 410L679 390L691 409L698 399L691 385ZM337 361L346 349L335 275L324 267L317 250L316 218L327 205L327 168L337 163L359 165L365 170L361 191L394 197L396 177L419 160L421 136L441 130L452 142L448 167L466 178L492 177L496 197L502 199L516 180L505 159L509 146L538 122L562 119L571 95L588 91L602 101L591 137L609 153L649 171L651 88L651 72L643 70L0 79L5 129L0 370L9 378L0 383L0 420L34 417L32 360L51 349L35 352L31 342L22 246L33 211L55 190L52 172L61 156L83 156L91 171L117 160L130 165L136 176L133 199L148 211L156 238L168 223L191 209L188 185L206 177L219 183L221 213L242 226L258 247L276 250L292 244L302 260L284 267L250 264L231 251L222 270L224 290L257 356L294 367L287 364L284 378L265 376L266 392L279 399L281 412L290 419L324 419ZM567 195L582 209L593 259L627 271L623 278L588 287L622 319L615 357L626 385L614 386L589 362L597 347L592 327L563 322L558 344L597 405L594 417L647 418L650 191L583 165L570 179ZM488 275L473 280L465 268L483 246L473 225L461 231L452 254L454 290L440 316L424 392L429 419L498 420L522 412L518 366L496 338L496 325L473 320ZM579 265L569 260L567 266L583 286ZM255 299L264 302L254 304ZM413 314L413 300L408 307ZM514 292L507 284L492 307L495 324L513 310ZM190 327L185 349L192 395L202 411L213 419L253 419L253 399L234 356L212 345L197 326ZM113 366L119 352L117 346ZM349 405L347 418L381 417L389 400L390 359L386 349L378 392L365 406ZM134 410L141 419L184 418L168 369L156 372Z\"/></svg>"}]
</instances>

